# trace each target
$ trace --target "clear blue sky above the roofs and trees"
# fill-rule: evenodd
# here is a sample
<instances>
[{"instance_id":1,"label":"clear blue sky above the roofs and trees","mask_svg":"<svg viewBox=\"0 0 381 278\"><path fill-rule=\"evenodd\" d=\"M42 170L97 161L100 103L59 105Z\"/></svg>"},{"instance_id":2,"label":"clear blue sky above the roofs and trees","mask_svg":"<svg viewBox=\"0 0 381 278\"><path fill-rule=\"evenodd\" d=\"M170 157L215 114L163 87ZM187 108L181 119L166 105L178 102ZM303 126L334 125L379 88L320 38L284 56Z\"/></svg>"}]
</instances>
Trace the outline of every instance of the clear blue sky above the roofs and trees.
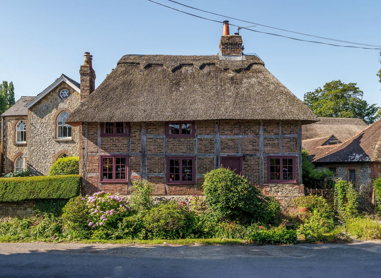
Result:
<instances>
[{"instance_id":1,"label":"clear blue sky above the roofs and trees","mask_svg":"<svg viewBox=\"0 0 381 278\"><path fill-rule=\"evenodd\" d=\"M180 10L225 18L156 0ZM354 42L381 44L381 1L178 0L260 24ZM16 99L35 96L61 75L79 82L83 52L93 55L96 86L125 54L209 55L219 51L222 26L146 0L5 1L0 17L0 81L13 81ZM251 24L230 20L232 24ZM285 33L266 27L258 31ZM231 33L235 30L231 27ZM356 82L364 99L381 106L378 50L332 47L241 31L246 53L257 53L291 92L303 94L331 80Z\"/></svg>"}]
</instances>

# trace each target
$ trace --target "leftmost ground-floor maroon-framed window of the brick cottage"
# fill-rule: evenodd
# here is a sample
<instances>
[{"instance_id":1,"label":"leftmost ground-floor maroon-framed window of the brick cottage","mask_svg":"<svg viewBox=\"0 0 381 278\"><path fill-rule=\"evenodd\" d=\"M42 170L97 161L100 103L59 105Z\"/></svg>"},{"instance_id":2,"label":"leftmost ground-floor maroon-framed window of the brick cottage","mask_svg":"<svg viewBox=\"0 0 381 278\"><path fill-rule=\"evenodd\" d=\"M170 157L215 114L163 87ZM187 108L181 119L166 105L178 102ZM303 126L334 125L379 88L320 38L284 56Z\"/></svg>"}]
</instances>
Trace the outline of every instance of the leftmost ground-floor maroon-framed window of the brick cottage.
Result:
<instances>
[{"instance_id":1,"label":"leftmost ground-floor maroon-framed window of the brick cottage","mask_svg":"<svg viewBox=\"0 0 381 278\"><path fill-rule=\"evenodd\" d=\"M128 155L101 155L99 159L101 182L128 182Z\"/></svg>"}]
</instances>

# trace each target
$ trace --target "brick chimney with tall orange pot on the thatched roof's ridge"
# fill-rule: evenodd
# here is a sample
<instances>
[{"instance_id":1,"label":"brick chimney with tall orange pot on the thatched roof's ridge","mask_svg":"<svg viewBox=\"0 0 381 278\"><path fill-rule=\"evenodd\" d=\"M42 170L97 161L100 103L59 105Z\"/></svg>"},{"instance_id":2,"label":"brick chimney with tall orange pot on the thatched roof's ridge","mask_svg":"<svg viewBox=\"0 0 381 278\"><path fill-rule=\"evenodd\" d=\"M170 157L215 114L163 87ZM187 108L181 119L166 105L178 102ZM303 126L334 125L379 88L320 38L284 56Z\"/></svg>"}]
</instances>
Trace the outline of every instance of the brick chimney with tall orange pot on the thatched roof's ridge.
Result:
<instances>
[{"instance_id":1,"label":"brick chimney with tall orange pot on the thatched roof's ridge","mask_svg":"<svg viewBox=\"0 0 381 278\"><path fill-rule=\"evenodd\" d=\"M236 34L229 35L229 21L225 20L222 37L219 40L221 56L242 56L242 37Z\"/></svg>"}]
</instances>

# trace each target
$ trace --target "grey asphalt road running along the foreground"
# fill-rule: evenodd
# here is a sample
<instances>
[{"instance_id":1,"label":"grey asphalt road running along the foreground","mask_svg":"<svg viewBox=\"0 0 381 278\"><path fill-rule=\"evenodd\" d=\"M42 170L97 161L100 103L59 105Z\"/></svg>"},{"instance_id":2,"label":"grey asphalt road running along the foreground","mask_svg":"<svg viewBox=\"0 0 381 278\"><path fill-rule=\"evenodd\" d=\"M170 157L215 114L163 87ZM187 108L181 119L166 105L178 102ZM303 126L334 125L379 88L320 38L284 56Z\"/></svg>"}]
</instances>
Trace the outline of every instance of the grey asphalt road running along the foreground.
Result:
<instances>
[{"instance_id":1,"label":"grey asphalt road running along the foreground","mask_svg":"<svg viewBox=\"0 0 381 278\"><path fill-rule=\"evenodd\" d=\"M293 246L0 243L0 277L381 277L381 241Z\"/></svg>"}]
</instances>

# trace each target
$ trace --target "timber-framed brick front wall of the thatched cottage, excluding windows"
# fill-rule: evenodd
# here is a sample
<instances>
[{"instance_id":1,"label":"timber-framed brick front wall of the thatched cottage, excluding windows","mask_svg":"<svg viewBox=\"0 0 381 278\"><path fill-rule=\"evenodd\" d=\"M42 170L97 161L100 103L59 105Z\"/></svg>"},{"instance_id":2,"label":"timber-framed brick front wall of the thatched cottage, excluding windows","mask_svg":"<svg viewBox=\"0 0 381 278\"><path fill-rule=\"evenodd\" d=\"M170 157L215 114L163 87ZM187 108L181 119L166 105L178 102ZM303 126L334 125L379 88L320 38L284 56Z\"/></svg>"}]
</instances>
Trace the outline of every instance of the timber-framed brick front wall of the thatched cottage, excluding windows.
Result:
<instances>
[{"instance_id":1,"label":"timber-framed brick front wall of the thatched cottage, excluding windows","mask_svg":"<svg viewBox=\"0 0 381 278\"><path fill-rule=\"evenodd\" d=\"M100 137L100 125L86 123L83 126L86 130L82 132L87 156L87 164L84 164L86 169L83 173L83 186L86 192L104 190L130 194L131 182L147 178L156 186L154 194L157 195L202 194L203 175L219 166L219 155L229 154L243 156L243 175L264 194L275 196L280 201L303 194L304 188L300 185L298 171L301 149L298 143L300 136L298 123L221 120L196 121L195 126L197 135L195 138L166 138L164 122L131 123L129 138L113 138ZM129 182L111 184L99 181L99 155L106 153L129 154ZM295 155L298 182L267 184L266 155L268 154ZM196 156L195 185L166 184L166 155Z\"/></svg>"}]
</instances>

